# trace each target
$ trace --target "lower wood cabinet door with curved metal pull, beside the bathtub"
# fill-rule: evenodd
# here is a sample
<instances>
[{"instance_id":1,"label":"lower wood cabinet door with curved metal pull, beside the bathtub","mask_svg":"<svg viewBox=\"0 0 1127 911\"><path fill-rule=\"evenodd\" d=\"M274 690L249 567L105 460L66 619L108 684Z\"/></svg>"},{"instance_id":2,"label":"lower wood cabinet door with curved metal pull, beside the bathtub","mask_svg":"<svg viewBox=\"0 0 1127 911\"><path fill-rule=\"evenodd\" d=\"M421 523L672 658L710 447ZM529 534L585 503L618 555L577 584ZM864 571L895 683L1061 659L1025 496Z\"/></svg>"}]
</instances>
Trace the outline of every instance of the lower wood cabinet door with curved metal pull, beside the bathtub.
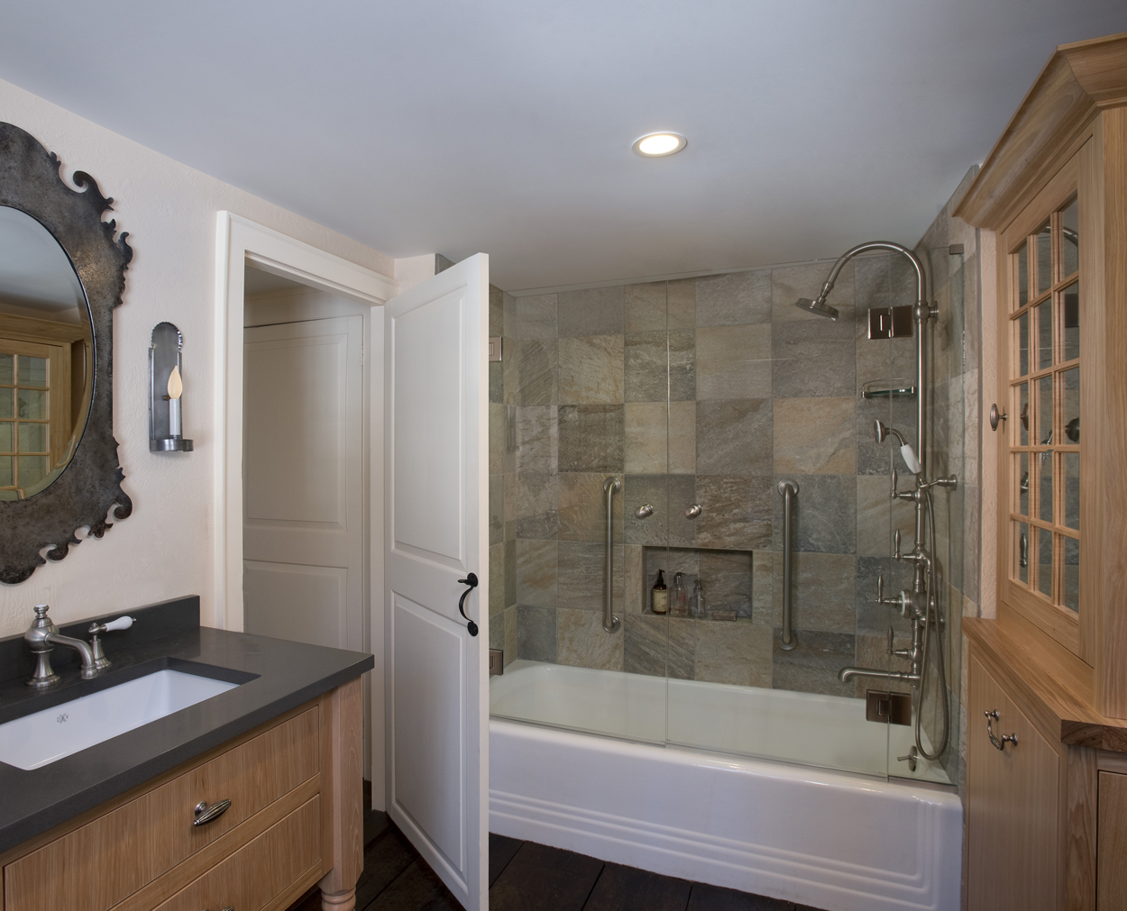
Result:
<instances>
[{"instance_id":1,"label":"lower wood cabinet door with curved metal pull, beside the bathtub","mask_svg":"<svg viewBox=\"0 0 1127 911\"><path fill-rule=\"evenodd\" d=\"M976 658L968 703L967 908L1055 909L1061 759ZM994 711L995 738L1017 734L1017 745L991 743Z\"/></svg>"}]
</instances>

